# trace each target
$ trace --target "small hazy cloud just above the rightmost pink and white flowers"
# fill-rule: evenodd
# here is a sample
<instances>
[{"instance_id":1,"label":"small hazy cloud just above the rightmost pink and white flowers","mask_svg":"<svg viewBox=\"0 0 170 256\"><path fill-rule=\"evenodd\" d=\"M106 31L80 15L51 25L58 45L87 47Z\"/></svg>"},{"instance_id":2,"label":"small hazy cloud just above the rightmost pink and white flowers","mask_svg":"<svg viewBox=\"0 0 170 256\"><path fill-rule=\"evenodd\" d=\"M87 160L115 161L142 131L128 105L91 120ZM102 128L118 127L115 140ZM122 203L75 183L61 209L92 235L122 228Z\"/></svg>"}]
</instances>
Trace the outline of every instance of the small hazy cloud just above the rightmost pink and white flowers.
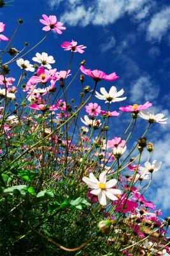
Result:
<instances>
[{"instance_id":1,"label":"small hazy cloud just above the rightmost pink and white flowers","mask_svg":"<svg viewBox=\"0 0 170 256\"><path fill-rule=\"evenodd\" d=\"M131 85L131 100L133 102L153 101L159 95L159 86L153 83L150 76L141 76Z\"/></svg>"}]
</instances>

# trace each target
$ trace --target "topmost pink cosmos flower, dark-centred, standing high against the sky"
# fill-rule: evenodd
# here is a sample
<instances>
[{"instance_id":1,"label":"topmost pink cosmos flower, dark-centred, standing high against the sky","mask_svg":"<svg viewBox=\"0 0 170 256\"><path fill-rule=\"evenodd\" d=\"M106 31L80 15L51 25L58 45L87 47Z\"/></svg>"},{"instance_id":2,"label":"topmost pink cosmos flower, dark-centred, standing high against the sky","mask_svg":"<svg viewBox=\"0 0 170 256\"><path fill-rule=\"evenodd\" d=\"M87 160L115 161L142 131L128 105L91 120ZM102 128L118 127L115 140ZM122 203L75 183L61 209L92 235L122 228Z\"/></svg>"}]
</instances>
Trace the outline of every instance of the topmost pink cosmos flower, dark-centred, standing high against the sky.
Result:
<instances>
[{"instance_id":1,"label":"topmost pink cosmos flower, dark-centred, standing high against the sky","mask_svg":"<svg viewBox=\"0 0 170 256\"><path fill-rule=\"evenodd\" d=\"M57 17L55 15L50 15L49 17L45 14L42 15L43 19L39 19L39 21L45 25L43 28L44 31L54 30L58 34L62 34L61 30L65 30L62 22L57 22Z\"/></svg>"}]
</instances>

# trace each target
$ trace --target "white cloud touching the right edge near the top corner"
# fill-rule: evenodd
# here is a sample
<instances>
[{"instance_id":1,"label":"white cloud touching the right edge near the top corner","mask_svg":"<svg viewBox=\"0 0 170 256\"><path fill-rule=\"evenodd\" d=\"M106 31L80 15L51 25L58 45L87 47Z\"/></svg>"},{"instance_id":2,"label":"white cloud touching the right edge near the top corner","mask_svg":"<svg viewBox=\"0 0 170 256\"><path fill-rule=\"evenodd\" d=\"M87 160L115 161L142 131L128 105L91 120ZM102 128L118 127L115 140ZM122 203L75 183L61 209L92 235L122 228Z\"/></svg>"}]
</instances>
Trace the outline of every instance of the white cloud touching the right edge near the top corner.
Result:
<instances>
[{"instance_id":1,"label":"white cloud touching the right edge near the top corner","mask_svg":"<svg viewBox=\"0 0 170 256\"><path fill-rule=\"evenodd\" d=\"M157 40L160 42L162 36L166 35L170 26L170 7L164 8L159 13L153 15L148 25L146 38L149 41Z\"/></svg>"}]
</instances>

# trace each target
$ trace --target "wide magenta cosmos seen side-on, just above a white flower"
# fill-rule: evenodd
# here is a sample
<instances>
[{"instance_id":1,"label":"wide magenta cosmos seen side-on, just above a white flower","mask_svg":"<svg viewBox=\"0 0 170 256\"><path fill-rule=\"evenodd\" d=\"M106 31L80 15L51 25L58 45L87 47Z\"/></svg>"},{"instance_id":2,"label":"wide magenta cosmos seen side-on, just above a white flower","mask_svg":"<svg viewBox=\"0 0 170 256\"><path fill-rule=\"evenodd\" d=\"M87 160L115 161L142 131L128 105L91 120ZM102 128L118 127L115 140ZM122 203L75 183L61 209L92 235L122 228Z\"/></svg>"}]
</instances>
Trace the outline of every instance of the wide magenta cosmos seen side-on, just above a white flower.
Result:
<instances>
[{"instance_id":1,"label":"wide magenta cosmos seen side-on, just above a white flower","mask_svg":"<svg viewBox=\"0 0 170 256\"><path fill-rule=\"evenodd\" d=\"M101 81L102 79L106 81L114 81L118 79L117 74L111 73L110 75L106 75L103 71L101 70L90 70L86 69L84 66L81 65L80 67L81 72L83 72L85 75L92 77L96 82Z\"/></svg>"}]
</instances>

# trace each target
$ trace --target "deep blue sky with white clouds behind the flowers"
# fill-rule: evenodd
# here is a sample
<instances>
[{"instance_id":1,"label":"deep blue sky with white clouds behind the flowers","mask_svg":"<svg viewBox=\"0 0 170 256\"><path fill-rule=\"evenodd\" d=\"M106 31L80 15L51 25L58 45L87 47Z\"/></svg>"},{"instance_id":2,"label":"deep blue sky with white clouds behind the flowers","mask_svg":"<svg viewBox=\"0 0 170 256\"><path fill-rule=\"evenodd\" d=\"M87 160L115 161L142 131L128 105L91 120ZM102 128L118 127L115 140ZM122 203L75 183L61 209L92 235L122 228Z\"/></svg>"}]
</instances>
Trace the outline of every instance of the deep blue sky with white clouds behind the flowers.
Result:
<instances>
[{"instance_id":1,"label":"deep blue sky with white clouds behind the flowers","mask_svg":"<svg viewBox=\"0 0 170 256\"><path fill-rule=\"evenodd\" d=\"M62 35L50 33L46 41L32 51L27 58L31 61L36 52L48 52L55 58L57 70L66 70L71 52L64 52L60 44L71 39L87 46L84 54L74 54L71 72L74 74L81 60L87 61L87 68L99 69L110 74L117 72L120 79L114 83L101 81L99 87L109 90L111 85L118 90L124 88L127 100L114 104L113 110L126 104L153 103L154 113L169 115L170 107L170 6L169 1L160 0L15 0L12 7L0 10L1 22L6 24L4 35L10 37L16 20L24 19L13 47L21 49L24 42L30 47L44 35L39 22L42 14L56 15L64 23ZM6 45L2 42L1 45ZM25 58L26 59L26 58ZM11 65L11 76L20 76L17 65ZM86 78L86 83L92 80ZM99 91L98 87L98 91ZM77 84L72 86L71 97L78 92ZM92 99L94 102L96 98ZM101 103L101 102L99 102ZM101 103L104 108L104 104ZM106 108L106 107L105 107ZM121 136L125 122L130 118L122 114L111 123L111 138ZM167 125L153 124L148 140L153 142L153 159L162 161L162 169L154 173L148 199L153 200L164 211L170 213L170 131ZM139 131L146 122L139 121Z\"/></svg>"}]
</instances>

